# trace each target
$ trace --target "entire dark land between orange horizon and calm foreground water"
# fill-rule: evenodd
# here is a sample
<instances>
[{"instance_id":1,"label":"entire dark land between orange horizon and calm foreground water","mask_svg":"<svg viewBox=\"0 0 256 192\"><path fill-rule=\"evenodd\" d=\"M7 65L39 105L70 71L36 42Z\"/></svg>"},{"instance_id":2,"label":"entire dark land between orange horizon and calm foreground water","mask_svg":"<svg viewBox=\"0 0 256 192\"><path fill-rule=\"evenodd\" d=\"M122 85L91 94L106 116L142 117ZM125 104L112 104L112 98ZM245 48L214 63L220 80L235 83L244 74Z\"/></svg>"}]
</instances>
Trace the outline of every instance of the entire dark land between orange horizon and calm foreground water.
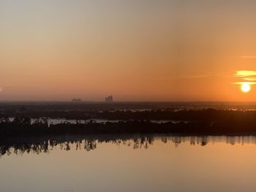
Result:
<instances>
[{"instance_id":1,"label":"entire dark land between orange horizon and calm foreground water","mask_svg":"<svg viewBox=\"0 0 256 192\"><path fill-rule=\"evenodd\" d=\"M93 134L256 135L256 111L185 108L194 105L196 104L1 103L0 139ZM203 103L196 106L202 105ZM123 109L120 110L120 107ZM146 110L138 110L141 107ZM15 118L11 121L12 117ZM31 118L36 120L31 121ZM48 118L77 121L49 124ZM97 123L92 119L105 119L107 122ZM80 120L87 121L81 123ZM152 120L165 120L165 123L154 123Z\"/></svg>"}]
</instances>

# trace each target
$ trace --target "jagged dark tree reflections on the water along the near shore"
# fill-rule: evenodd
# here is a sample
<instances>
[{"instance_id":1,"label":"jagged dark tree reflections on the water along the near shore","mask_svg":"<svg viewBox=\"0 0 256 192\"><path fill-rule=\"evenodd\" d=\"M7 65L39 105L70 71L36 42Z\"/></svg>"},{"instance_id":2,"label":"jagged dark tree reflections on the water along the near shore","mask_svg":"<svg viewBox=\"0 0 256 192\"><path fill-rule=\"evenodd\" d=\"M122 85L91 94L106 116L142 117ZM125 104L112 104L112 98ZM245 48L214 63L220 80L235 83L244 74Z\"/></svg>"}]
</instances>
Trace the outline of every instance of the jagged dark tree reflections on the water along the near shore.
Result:
<instances>
[{"instance_id":1,"label":"jagged dark tree reflections on the water along the near shore","mask_svg":"<svg viewBox=\"0 0 256 192\"><path fill-rule=\"evenodd\" d=\"M65 136L65 137L51 137L51 138L34 138L34 139L5 139L0 141L0 156L10 155L12 153L16 155L22 155L23 153L50 153L55 147L59 147L61 150L95 150L98 144L115 144L126 145L133 149L148 149L150 145L154 145L155 140L160 140L163 143L172 142L173 145L178 147L181 143L188 142L189 145L201 145L208 144L214 145L214 143L222 142L228 145L244 145L244 144L256 144L255 136L246 137L182 137L182 136L90 136L90 137L78 137L78 136Z\"/></svg>"}]
</instances>

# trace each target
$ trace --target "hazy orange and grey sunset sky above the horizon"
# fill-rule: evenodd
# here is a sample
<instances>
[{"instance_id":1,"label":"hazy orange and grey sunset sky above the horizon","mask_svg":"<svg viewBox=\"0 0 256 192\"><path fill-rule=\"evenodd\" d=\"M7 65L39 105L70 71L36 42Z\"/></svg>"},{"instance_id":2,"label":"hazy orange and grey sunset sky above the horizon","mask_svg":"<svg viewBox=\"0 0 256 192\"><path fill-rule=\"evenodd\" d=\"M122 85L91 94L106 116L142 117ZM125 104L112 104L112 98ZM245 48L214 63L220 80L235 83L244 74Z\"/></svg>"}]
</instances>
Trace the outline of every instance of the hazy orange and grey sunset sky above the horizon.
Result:
<instances>
[{"instance_id":1,"label":"hazy orange and grey sunset sky above the horizon","mask_svg":"<svg viewBox=\"0 0 256 192\"><path fill-rule=\"evenodd\" d=\"M0 101L256 101L255 6L0 0Z\"/></svg>"}]
</instances>

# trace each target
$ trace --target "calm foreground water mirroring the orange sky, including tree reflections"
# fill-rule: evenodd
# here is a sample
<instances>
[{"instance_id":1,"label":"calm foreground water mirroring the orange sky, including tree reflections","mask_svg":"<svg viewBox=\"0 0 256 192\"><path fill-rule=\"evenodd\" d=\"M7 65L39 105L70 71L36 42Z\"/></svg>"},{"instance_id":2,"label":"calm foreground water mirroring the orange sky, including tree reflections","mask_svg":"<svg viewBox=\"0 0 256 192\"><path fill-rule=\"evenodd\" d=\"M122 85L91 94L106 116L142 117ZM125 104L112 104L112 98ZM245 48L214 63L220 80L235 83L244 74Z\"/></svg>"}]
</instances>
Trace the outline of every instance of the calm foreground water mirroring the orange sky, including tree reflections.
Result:
<instances>
[{"instance_id":1,"label":"calm foreground water mirroring the orange sky, including tree reflections","mask_svg":"<svg viewBox=\"0 0 256 192\"><path fill-rule=\"evenodd\" d=\"M255 137L1 143L0 191L255 191Z\"/></svg>"}]
</instances>

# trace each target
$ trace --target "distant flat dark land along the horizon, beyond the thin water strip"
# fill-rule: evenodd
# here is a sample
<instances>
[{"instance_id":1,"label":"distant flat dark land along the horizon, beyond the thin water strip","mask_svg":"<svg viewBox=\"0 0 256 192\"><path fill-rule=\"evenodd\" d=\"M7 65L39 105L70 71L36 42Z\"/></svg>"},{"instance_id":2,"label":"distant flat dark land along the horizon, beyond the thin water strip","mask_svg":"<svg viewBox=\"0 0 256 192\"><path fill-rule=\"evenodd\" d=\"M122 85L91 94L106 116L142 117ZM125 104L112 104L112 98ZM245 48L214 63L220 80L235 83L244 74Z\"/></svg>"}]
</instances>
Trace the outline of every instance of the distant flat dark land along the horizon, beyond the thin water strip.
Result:
<instances>
[{"instance_id":1,"label":"distant flat dark land along the horizon, beyond the thin water strip","mask_svg":"<svg viewBox=\"0 0 256 192\"><path fill-rule=\"evenodd\" d=\"M211 108L209 108L209 106ZM235 108L236 110L230 110ZM227 110L228 109L228 110ZM238 110L237 110L238 109ZM256 118L256 106L222 103L70 102L0 103L0 116L15 118L65 118L67 120L211 120Z\"/></svg>"}]
</instances>

